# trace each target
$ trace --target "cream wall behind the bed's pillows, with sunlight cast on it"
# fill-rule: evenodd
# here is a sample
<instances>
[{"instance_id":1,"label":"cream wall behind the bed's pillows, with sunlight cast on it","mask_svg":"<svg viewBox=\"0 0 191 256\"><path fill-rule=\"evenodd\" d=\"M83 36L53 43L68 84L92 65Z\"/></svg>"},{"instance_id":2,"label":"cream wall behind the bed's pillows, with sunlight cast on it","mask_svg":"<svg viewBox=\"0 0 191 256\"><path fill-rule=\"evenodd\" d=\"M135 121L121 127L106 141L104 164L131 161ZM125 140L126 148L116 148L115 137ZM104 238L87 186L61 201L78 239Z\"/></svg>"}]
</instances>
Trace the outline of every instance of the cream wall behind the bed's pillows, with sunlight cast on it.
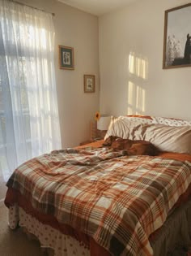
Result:
<instances>
[{"instance_id":1,"label":"cream wall behind the bed's pillows, with sunlight cast on it","mask_svg":"<svg viewBox=\"0 0 191 256\"><path fill-rule=\"evenodd\" d=\"M101 112L191 119L191 67L162 69L164 11L189 2L139 0L99 18Z\"/></svg>"}]
</instances>

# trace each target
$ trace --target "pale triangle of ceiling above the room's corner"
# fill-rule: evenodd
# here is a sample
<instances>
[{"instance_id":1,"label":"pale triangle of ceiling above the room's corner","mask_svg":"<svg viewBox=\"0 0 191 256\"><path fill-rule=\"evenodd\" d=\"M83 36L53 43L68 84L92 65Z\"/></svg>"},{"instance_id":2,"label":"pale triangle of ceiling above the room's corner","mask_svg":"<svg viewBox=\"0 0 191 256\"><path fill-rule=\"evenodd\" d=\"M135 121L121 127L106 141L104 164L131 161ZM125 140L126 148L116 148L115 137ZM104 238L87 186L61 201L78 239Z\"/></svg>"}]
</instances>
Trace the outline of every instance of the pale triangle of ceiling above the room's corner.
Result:
<instances>
[{"instance_id":1,"label":"pale triangle of ceiling above the room's corner","mask_svg":"<svg viewBox=\"0 0 191 256\"><path fill-rule=\"evenodd\" d=\"M93 15L103 15L110 11L127 6L130 2L138 0L57 0L66 3L70 7L89 12Z\"/></svg>"}]
</instances>

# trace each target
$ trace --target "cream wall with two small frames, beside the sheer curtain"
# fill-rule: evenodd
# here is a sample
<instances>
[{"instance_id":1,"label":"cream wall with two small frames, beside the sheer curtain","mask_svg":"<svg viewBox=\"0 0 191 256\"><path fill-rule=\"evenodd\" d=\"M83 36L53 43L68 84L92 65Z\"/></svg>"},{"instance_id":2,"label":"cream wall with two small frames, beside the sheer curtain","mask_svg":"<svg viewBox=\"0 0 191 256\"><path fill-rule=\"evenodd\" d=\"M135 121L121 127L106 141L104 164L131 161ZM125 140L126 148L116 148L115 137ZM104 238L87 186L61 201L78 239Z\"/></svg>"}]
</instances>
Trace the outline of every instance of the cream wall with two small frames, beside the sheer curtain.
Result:
<instances>
[{"instance_id":1,"label":"cream wall with two small frames, beside the sheer curtain","mask_svg":"<svg viewBox=\"0 0 191 256\"><path fill-rule=\"evenodd\" d=\"M55 0L19 0L55 13L55 70L62 148L90 137L90 120L100 104L98 18ZM61 70L58 46L74 47L74 71ZM83 75L96 75L96 93L83 92Z\"/></svg>"}]
</instances>

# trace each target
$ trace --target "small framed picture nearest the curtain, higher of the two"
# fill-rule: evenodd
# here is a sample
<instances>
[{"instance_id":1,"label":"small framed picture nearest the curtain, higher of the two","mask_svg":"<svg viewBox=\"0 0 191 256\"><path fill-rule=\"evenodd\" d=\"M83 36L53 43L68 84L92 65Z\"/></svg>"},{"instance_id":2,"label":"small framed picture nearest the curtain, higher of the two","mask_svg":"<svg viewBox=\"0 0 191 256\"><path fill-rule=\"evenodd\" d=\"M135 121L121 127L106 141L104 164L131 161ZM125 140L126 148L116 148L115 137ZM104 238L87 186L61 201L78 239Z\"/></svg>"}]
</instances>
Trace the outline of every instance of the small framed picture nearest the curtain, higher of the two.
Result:
<instances>
[{"instance_id":1,"label":"small framed picture nearest the curtain, higher of the two","mask_svg":"<svg viewBox=\"0 0 191 256\"><path fill-rule=\"evenodd\" d=\"M74 48L59 46L59 65L61 69L74 69Z\"/></svg>"}]
</instances>

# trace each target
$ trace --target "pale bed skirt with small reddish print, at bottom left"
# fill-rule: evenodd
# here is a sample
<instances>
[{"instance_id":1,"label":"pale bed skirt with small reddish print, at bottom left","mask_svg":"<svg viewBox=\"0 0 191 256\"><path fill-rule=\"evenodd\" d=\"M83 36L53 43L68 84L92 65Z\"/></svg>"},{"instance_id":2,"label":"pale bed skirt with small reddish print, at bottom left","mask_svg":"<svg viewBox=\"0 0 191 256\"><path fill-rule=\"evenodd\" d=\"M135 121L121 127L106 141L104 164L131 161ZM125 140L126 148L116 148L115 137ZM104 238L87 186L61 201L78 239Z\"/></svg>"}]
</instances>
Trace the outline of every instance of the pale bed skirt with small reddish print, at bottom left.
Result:
<instances>
[{"instance_id":1,"label":"pale bed skirt with small reddish print, at bottom left","mask_svg":"<svg viewBox=\"0 0 191 256\"><path fill-rule=\"evenodd\" d=\"M27 214L21 207L11 206L9 210L9 226L11 229L23 228L30 239L40 241L42 249L49 256L90 256L89 249L81 241L62 234L59 230L40 223L38 219Z\"/></svg>"}]
</instances>

